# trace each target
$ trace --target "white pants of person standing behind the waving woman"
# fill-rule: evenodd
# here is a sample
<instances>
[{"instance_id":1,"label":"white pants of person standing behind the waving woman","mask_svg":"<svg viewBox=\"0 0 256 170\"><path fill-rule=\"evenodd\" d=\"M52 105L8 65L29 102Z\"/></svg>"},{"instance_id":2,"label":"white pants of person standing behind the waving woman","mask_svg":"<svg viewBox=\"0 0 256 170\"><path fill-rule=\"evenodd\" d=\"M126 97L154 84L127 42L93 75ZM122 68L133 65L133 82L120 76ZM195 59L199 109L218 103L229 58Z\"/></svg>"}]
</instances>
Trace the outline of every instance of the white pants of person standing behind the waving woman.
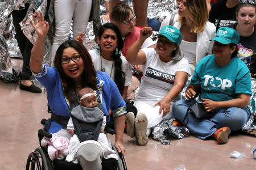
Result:
<instances>
[{"instance_id":1,"label":"white pants of person standing behind the waving woman","mask_svg":"<svg viewBox=\"0 0 256 170\"><path fill-rule=\"evenodd\" d=\"M57 48L65 40L68 40L71 22L73 18L73 37L85 32L88 24L92 0L55 0L55 35L52 44L52 63L55 58Z\"/></svg>"}]
</instances>

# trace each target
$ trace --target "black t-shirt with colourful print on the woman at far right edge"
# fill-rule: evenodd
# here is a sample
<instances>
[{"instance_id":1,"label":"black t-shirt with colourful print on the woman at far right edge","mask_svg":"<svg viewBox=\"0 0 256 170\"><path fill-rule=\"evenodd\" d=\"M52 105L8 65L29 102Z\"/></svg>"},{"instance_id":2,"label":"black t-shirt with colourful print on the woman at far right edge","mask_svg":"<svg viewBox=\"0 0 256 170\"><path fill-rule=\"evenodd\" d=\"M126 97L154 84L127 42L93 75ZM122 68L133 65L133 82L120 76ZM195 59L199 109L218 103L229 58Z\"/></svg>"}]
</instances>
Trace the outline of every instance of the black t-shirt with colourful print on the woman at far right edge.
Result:
<instances>
[{"instance_id":1,"label":"black t-shirt with colourful print on the woman at far right edge","mask_svg":"<svg viewBox=\"0 0 256 170\"><path fill-rule=\"evenodd\" d=\"M228 27L236 29L236 24L230 24ZM236 29L237 30L237 29ZM254 32L249 37L240 36L238 46L238 58L242 59L250 70L250 73L256 73L256 25Z\"/></svg>"}]
</instances>

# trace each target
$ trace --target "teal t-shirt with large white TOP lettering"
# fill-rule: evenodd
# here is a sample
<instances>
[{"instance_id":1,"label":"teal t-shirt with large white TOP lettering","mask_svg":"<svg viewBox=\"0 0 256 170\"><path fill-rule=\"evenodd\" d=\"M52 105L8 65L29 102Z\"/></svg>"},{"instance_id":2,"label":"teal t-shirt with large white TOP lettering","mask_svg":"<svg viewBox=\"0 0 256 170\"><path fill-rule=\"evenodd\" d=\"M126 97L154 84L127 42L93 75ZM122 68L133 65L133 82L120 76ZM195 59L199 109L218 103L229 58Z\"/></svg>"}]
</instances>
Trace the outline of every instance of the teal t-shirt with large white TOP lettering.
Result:
<instances>
[{"instance_id":1,"label":"teal t-shirt with large white TOP lettering","mask_svg":"<svg viewBox=\"0 0 256 170\"><path fill-rule=\"evenodd\" d=\"M214 55L204 57L196 65L191 84L200 84L200 99L227 101L237 94L251 95L250 71L237 57L225 66L217 65Z\"/></svg>"}]
</instances>

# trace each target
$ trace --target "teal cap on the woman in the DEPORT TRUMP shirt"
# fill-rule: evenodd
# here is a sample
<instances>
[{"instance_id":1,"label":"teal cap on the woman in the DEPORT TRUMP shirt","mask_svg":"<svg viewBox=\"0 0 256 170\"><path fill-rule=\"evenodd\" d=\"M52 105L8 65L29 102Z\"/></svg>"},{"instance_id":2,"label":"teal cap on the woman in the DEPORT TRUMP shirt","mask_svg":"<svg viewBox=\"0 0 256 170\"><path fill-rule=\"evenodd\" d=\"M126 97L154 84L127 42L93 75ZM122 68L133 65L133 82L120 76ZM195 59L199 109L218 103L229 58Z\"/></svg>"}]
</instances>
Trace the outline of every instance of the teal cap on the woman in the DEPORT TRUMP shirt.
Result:
<instances>
[{"instance_id":1,"label":"teal cap on the woman in the DEPORT TRUMP shirt","mask_svg":"<svg viewBox=\"0 0 256 170\"><path fill-rule=\"evenodd\" d=\"M180 42L182 40L182 35L179 29L175 28L172 25L166 25L164 26L156 36L162 35L167 37L168 40L175 42L180 45Z\"/></svg>"}]
</instances>

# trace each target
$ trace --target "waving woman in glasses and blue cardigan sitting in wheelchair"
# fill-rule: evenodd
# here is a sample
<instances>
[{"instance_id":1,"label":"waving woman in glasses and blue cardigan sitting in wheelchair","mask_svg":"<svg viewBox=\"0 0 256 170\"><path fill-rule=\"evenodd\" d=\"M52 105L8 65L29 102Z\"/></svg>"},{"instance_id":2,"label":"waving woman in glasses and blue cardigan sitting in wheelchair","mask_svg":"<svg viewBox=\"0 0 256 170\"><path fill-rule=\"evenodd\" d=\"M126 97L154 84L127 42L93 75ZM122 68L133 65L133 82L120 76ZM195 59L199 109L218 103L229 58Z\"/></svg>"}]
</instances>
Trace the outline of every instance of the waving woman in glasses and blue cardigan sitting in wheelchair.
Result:
<instances>
[{"instance_id":1,"label":"waving woman in glasses and blue cardigan sitting in wheelchair","mask_svg":"<svg viewBox=\"0 0 256 170\"><path fill-rule=\"evenodd\" d=\"M125 126L125 101L122 100L118 88L103 72L96 72L92 59L85 47L77 41L65 41L56 52L54 66L43 63L44 42L48 32L48 23L44 21L42 12L36 11L31 25L38 34L38 39L31 51L30 68L36 78L46 88L48 104L52 110L52 121L49 122L49 133L69 135L67 127L72 108L79 105L77 93L81 88L90 87L101 97L103 112L108 115L109 109L115 119L115 147L118 152L125 152L123 147L123 129ZM106 117L109 121L109 116ZM95 143L87 143L76 152L76 158L82 169L101 169L102 150Z\"/></svg>"}]
</instances>

